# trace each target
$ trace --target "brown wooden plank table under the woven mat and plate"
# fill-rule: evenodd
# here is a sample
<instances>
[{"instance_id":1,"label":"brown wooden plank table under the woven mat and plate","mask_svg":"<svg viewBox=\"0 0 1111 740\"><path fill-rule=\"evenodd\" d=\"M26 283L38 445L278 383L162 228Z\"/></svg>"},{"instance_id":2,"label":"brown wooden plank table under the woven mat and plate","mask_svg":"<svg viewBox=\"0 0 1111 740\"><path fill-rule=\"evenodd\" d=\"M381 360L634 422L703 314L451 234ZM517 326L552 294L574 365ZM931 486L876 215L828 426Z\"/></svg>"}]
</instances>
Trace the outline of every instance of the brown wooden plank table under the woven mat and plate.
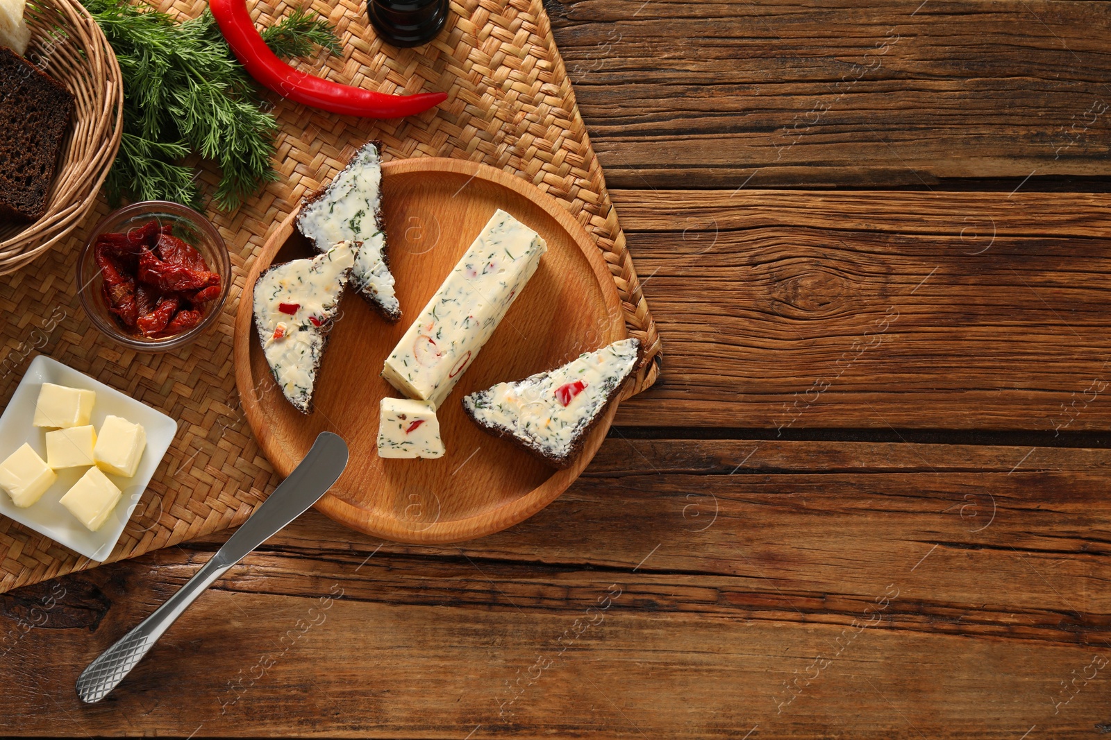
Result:
<instances>
[{"instance_id":1,"label":"brown wooden plank table under the woven mat and plate","mask_svg":"<svg viewBox=\"0 0 1111 740\"><path fill-rule=\"evenodd\" d=\"M919 2L551 2L662 381L497 536L304 515L99 706L226 534L0 597L0 733L1111 731L1111 8Z\"/></svg>"}]
</instances>

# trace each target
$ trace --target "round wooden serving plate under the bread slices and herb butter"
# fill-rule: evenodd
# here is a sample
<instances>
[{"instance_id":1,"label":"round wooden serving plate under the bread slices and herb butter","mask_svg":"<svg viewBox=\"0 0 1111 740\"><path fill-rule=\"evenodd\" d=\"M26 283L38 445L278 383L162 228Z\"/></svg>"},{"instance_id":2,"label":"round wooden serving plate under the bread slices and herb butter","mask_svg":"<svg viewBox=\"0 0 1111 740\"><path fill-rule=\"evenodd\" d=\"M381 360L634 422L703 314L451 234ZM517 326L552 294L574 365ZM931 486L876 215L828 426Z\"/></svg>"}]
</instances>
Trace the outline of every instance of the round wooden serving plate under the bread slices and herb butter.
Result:
<instances>
[{"instance_id":1,"label":"round wooden serving plate under the bread slices and herb butter","mask_svg":"<svg viewBox=\"0 0 1111 740\"><path fill-rule=\"evenodd\" d=\"M382 165L391 271L403 316L389 324L348 292L317 381L314 410L297 412L274 385L252 325L251 292L276 262L311 256L296 213L270 235L247 278L236 317L236 384L262 452L289 475L320 432L351 450L347 470L317 508L354 529L402 543L452 543L504 529L563 493L593 457L617 412L594 427L582 454L556 470L492 437L460 399L501 381L557 367L627 336L609 267L579 223L534 185L486 164L423 158ZM379 373L387 355L497 209L534 229L548 253L493 337L438 412L440 459L378 456L378 408L400 396Z\"/></svg>"}]
</instances>

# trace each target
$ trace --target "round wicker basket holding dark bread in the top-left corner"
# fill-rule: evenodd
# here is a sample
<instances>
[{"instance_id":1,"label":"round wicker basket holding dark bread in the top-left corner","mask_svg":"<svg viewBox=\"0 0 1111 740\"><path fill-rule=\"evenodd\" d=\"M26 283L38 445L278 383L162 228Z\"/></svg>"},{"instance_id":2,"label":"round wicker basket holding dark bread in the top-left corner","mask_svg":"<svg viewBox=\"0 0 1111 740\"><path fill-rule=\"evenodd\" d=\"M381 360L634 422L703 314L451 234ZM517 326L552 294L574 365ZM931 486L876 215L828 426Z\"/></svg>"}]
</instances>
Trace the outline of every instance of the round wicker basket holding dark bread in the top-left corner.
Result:
<instances>
[{"instance_id":1,"label":"round wicker basket holding dark bread in the top-left corner","mask_svg":"<svg viewBox=\"0 0 1111 740\"><path fill-rule=\"evenodd\" d=\"M39 256L77 226L97 201L123 131L120 65L100 27L77 0L30 0L24 54L73 93L47 212L32 224L0 227L0 275Z\"/></svg>"}]
</instances>

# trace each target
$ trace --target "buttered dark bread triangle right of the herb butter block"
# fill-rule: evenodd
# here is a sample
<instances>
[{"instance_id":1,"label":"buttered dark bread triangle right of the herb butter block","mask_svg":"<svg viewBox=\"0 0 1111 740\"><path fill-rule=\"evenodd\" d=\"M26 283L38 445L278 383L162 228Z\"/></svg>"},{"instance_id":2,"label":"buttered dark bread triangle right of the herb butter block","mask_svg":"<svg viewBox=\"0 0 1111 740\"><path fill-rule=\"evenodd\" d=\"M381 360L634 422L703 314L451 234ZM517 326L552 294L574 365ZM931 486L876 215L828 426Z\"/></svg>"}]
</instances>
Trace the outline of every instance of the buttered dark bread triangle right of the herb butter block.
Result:
<instances>
[{"instance_id":1,"label":"buttered dark bread triangle right of the herb butter block","mask_svg":"<svg viewBox=\"0 0 1111 740\"><path fill-rule=\"evenodd\" d=\"M553 371L472 393L463 409L483 430L567 467L639 359L640 342L621 339Z\"/></svg>"}]
</instances>

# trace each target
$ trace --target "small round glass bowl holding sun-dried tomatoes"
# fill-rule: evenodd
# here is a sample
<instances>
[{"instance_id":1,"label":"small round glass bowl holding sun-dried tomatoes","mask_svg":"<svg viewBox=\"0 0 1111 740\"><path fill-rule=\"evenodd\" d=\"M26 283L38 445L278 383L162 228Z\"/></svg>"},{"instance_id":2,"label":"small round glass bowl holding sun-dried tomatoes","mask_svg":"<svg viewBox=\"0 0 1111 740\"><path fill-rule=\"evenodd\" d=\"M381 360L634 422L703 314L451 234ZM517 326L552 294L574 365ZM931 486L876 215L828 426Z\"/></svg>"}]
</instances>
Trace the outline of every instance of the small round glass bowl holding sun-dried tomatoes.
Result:
<instances>
[{"instance_id":1,"label":"small round glass bowl holding sun-dried tomatoes","mask_svg":"<svg viewBox=\"0 0 1111 740\"><path fill-rule=\"evenodd\" d=\"M191 244L204 257L209 270L220 274L220 296L203 305L204 316L197 326L163 338L148 338L139 334L130 334L108 310L101 291L103 282L100 268L93 259L93 245L97 237L108 233L126 233L130 229L142 226L149 221L158 222L159 226L170 224L172 234ZM112 211L89 234L81 256L77 261L78 295L81 305L93 326L101 333L126 347L140 352L169 352L196 341L216 324L231 288L231 259L220 233L208 219L197 211L169 201L143 201L132 203Z\"/></svg>"}]
</instances>

